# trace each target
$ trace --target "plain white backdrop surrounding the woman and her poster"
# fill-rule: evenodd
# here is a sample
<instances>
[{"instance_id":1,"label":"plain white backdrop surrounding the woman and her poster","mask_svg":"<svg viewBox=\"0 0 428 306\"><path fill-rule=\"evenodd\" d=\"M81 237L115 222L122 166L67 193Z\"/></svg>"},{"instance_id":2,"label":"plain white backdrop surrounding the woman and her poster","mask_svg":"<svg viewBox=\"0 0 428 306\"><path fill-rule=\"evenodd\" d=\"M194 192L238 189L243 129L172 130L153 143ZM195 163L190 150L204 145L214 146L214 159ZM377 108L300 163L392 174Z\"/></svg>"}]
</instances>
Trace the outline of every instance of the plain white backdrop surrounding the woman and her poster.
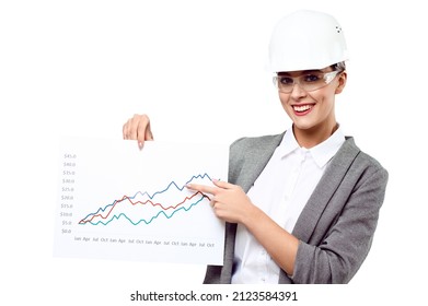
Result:
<instances>
[{"instance_id":1,"label":"plain white backdrop surrounding the woman and her poster","mask_svg":"<svg viewBox=\"0 0 428 306\"><path fill-rule=\"evenodd\" d=\"M275 23L301 8L340 22L351 60L337 118L390 172L372 250L351 291L325 303L426 299L423 3L1 1L0 299L125 305L148 284L203 291L201 266L53 258L59 138L119 139L134 113L149 114L165 141L284 131L290 122L264 67Z\"/></svg>"}]
</instances>

